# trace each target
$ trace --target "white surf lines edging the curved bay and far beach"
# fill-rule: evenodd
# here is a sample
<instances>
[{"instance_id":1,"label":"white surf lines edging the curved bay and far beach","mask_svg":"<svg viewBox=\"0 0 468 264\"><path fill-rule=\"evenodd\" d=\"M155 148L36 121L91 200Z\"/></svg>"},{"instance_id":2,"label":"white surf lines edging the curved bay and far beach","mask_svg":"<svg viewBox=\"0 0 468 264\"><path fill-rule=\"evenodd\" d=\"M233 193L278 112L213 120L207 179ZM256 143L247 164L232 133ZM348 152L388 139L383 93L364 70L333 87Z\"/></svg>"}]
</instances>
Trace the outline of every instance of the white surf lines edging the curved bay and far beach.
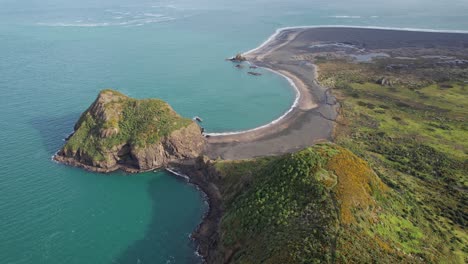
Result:
<instances>
[{"instance_id":1,"label":"white surf lines edging the curved bay and far beach","mask_svg":"<svg viewBox=\"0 0 468 264\"><path fill-rule=\"evenodd\" d=\"M282 28L278 28L275 31L275 33L273 33L273 35L268 37L262 44L260 44L260 46L254 48L254 49L251 49L251 50L249 50L247 52L244 52L244 53L242 53L242 55L245 56L245 55L248 55L250 53L253 53L253 52L256 52L256 51L262 49L263 47L268 45L271 41L273 41L281 32L283 32L285 30L309 29L309 28L356 28L356 29L362 28L362 29L379 29L379 30L399 30L399 31L411 31L411 32L460 33L460 34L467 34L468 33L467 30L438 30L438 29L395 28L395 27L376 27L376 26L349 26L349 25L320 25L320 26L282 27ZM281 121L289 113L291 113L294 110L294 108L297 107L297 105L299 103L301 93L300 93L299 89L297 88L296 84L294 84L294 81L291 80L291 78L287 77L286 75L281 74L280 72L277 72L277 71L275 71L273 69L266 68L266 67L260 67L260 68L266 69L268 71L271 71L273 73L276 73L276 74L284 77L289 82L289 84L294 88L294 90L296 91L296 99L294 100L294 103L288 109L288 111L286 111L284 114L282 114L277 119L275 119L275 120L271 121L270 123L268 123L266 125L263 125L263 126L259 126L259 127L248 129L248 130L233 131L233 132L205 133L205 135L209 135L210 137L239 135L239 134L244 134L244 133L253 132L253 131L256 131L256 130L259 130L259 129L267 128L267 127L270 127L270 126L278 123L279 121Z\"/></svg>"}]
</instances>

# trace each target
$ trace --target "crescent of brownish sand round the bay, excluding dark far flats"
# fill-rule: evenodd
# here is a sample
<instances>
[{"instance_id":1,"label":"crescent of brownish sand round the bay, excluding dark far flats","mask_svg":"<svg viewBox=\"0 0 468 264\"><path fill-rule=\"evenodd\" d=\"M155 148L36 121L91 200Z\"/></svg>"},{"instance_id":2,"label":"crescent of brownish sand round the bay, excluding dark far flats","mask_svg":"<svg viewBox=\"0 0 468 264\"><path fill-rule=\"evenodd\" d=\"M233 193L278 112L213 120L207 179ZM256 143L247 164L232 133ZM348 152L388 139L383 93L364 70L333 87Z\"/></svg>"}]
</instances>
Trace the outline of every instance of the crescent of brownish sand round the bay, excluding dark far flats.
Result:
<instances>
[{"instance_id":1,"label":"crescent of brownish sand round the bay, excluding dark far flats","mask_svg":"<svg viewBox=\"0 0 468 264\"><path fill-rule=\"evenodd\" d=\"M313 64L290 64L294 54L288 44L299 32L282 31L259 48L243 55L252 64L286 78L296 91L291 108L278 119L254 129L212 133L207 138L206 155L210 158L245 159L276 155L330 140L338 104L325 87L316 82Z\"/></svg>"}]
</instances>

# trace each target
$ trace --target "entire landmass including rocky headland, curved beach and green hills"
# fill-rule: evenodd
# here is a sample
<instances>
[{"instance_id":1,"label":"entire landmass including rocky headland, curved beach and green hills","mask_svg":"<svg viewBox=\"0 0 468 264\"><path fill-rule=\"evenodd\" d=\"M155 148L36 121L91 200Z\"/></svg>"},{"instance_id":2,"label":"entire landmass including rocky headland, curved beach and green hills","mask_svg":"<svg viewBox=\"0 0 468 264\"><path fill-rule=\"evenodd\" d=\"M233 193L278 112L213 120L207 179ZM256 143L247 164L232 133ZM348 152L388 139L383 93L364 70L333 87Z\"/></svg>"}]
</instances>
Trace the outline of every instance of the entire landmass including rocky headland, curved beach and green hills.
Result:
<instances>
[{"instance_id":1,"label":"entire landmass including rocky headland, curved beach and green hills","mask_svg":"<svg viewBox=\"0 0 468 264\"><path fill-rule=\"evenodd\" d=\"M104 90L55 159L187 175L209 198L207 263L464 263L467 54L467 34L279 30L232 59L293 84L278 120L204 138L163 101Z\"/></svg>"}]
</instances>

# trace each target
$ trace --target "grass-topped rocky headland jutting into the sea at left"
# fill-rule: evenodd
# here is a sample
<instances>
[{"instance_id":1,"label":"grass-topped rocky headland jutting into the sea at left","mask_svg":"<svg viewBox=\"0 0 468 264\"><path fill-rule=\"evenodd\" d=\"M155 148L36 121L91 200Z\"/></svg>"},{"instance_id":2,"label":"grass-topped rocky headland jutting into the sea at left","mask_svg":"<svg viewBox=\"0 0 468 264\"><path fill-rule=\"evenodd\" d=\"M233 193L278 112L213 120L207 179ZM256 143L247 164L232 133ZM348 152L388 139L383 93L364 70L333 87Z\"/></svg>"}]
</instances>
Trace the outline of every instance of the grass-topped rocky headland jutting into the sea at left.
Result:
<instances>
[{"instance_id":1,"label":"grass-topped rocky headland jutting into the sea at left","mask_svg":"<svg viewBox=\"0 0 468 264\"><path fill-rule=\"evenodd\" d=\"M92 171L137 172L196 158L204 144L199 126L167 103L103 90L54 159Z\"/></svg>"}]
</instances>

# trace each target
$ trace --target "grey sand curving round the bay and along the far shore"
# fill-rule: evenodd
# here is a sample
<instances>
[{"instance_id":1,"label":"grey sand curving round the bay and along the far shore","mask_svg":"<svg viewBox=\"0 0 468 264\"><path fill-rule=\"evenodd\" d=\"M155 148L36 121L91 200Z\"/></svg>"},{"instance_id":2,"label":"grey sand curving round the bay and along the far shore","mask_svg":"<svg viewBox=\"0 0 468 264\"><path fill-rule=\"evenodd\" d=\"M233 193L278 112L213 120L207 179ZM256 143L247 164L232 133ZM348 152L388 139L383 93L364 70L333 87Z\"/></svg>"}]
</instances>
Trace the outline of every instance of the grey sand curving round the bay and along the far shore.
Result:
<instances>
[{"instance_id":1,"label":"grey sand curving round the bay and along the far shore","mask_svg":"<svg viewBox=\"0 0 468 264\"><path fill-rule=\"evenodd\" d=\"M468 34L345 27L279 30L260 47L243 55L250 63L293 81L299 93L297 104L274 124L208 137L205 154L213 159L246 159L293 152L318 141L332 140L339 103L329 89L316 81L316 66L301 59L311 53L311 45L320 43L340 43L368 52L441 48L463 54L468 48Z\"/></svg>"}]
</instances>

